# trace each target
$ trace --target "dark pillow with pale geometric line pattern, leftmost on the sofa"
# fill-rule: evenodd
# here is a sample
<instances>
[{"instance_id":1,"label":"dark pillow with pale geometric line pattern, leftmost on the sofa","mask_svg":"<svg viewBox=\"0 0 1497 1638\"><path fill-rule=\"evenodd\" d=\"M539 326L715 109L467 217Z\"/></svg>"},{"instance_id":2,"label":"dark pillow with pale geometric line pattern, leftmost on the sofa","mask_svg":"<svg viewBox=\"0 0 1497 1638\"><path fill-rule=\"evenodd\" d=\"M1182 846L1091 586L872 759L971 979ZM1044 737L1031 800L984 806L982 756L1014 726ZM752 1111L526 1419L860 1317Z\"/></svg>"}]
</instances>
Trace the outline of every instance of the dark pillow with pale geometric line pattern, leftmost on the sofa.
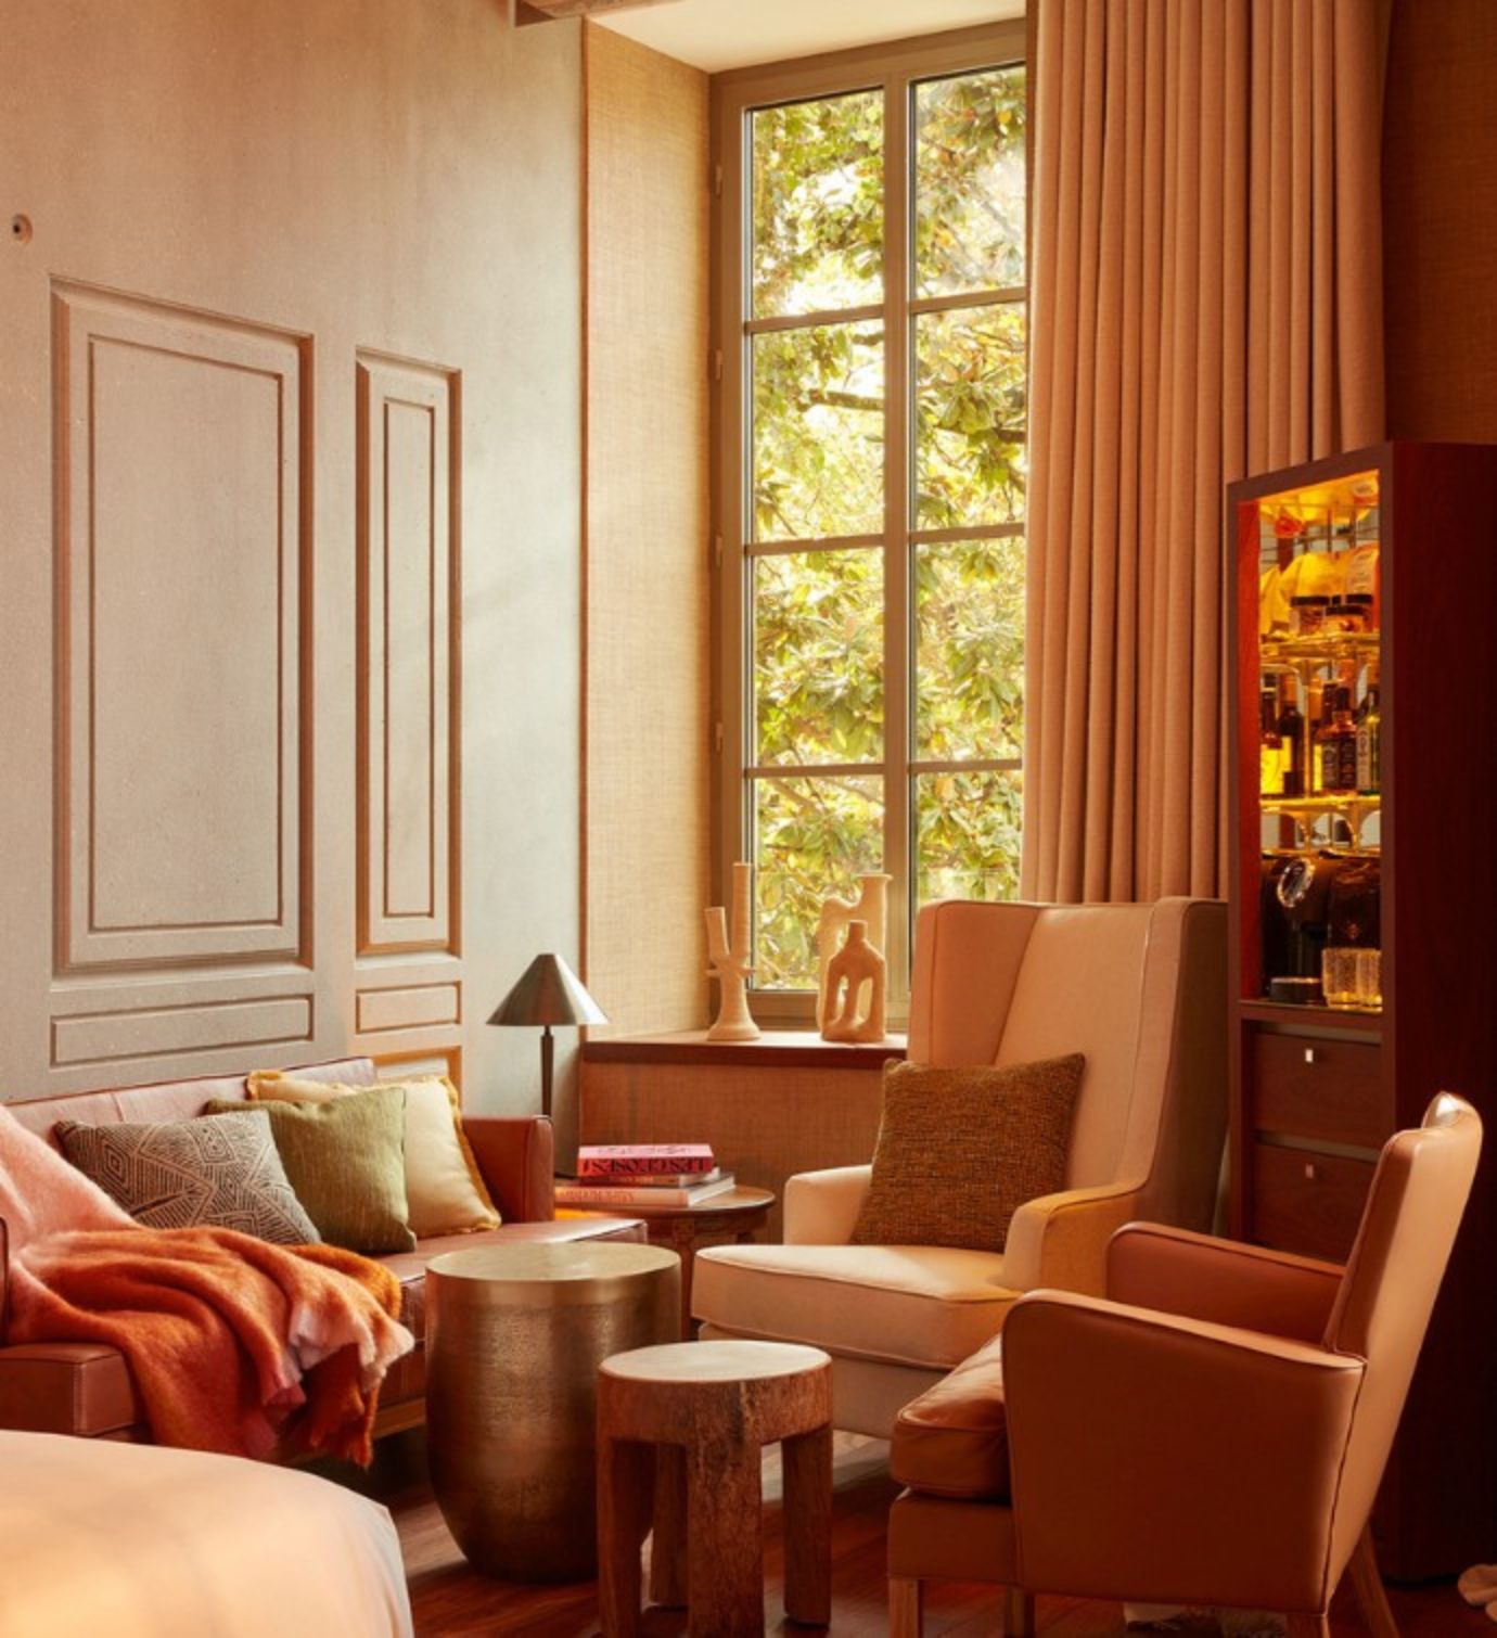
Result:
<instances>
[{"instance_id":1,"label":"dark pillow with pale geometric line pattern, leftmost on the sofa","mask_svg":"<svg viewBox=\"0 0 1497 1638\"><path fill-rule=\"evenodd\" d=\"M270 1117L84 1125L59 1120L62 1153L149 1228L237 1228L275 1245L321 1238L287 1181Z\"/></svg>"}]
</instances>

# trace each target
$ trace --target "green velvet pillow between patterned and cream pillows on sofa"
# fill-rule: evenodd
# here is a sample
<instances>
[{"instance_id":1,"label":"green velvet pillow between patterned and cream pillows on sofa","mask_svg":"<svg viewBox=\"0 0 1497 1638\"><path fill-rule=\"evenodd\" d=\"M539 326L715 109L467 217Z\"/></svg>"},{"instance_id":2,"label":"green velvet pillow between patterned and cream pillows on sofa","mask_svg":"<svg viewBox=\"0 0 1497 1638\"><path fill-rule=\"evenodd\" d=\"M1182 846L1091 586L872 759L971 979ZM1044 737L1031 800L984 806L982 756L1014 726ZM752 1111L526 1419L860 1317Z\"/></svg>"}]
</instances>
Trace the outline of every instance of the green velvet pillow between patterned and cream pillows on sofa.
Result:
<instances>
[{"instance_id":1,"label":"green velvet pillow between patterned and cream pillows on sofa","mask_svg":"<svg viewBox=\"0 0 1497 1638\"><path fill-rule=\"evenodd\" d=\"M326 1104L246 1104L215 1099L210 1115L264 1111L287 1178L329 1245L349 1251L409 1251L401 1086L370 1086Z\"/></svg>"}]
</instances>

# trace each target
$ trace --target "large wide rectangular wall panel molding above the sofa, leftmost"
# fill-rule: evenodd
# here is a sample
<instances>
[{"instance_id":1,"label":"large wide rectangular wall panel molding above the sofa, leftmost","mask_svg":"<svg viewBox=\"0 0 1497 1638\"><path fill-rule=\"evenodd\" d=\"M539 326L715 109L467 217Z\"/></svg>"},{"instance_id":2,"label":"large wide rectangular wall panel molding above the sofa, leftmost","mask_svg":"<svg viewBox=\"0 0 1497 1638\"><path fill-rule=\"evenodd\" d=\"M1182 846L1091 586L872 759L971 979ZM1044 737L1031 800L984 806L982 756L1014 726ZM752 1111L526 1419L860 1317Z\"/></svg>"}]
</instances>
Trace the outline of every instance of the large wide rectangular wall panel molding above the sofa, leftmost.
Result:
<instances>
[{"instance_id":1,"label":"large wide rectangular wall panel molding above the sofa, leftmost","mask_svg":"<svg viewBox=\"0 0 1497 1638\"><path fill-rule=\"evenodd\" d=\"M56 970L305 962L310 342L67 283L52 324Z\"/></svg>"}]
</instances>

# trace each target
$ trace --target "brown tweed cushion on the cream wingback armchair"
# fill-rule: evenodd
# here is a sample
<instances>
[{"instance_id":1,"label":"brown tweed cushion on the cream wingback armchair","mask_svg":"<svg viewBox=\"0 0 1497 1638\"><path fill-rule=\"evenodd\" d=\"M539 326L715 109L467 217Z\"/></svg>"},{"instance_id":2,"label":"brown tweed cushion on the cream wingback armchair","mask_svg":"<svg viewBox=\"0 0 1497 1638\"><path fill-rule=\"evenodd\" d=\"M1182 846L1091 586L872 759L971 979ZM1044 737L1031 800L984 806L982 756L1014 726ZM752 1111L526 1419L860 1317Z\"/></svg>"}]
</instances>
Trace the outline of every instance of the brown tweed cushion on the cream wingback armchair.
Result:
<instances>
[{"instance_id":1,"label":"brown tweed cushion on the cream wingback armchair","mask_svg":"<svg viewBox=\"0 0 1497 1638\"><path fill-rule=\"evenodd\" d=\"M873 1181L853 1245L1001 1251L1025 1202L1065 1188L1079 1052L997 1070L884 1066Z\"/></svg>"}]
</instances>

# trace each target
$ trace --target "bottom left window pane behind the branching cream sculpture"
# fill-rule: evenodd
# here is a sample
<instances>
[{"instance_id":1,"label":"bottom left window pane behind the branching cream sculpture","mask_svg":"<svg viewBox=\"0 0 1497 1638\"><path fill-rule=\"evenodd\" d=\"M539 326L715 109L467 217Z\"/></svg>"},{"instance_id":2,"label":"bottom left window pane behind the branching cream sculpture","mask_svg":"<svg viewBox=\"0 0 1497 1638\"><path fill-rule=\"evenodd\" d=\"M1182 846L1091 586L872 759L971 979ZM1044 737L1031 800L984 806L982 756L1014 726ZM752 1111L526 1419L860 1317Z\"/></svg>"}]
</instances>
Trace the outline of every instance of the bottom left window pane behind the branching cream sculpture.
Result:
<instances>
[{"instance_id":1,"label":"bottom left window pane behind the branching cream sculpture","mask_svg":"<svg viewBox=\"0 0 1497 1638\"><path fill-rule=\"evenodd\" d=\"M758 989L816 989L822 899L858 896L857 878L883 870L883 781L755 780L753 834Z\"/></svg>"}]
</instances>

